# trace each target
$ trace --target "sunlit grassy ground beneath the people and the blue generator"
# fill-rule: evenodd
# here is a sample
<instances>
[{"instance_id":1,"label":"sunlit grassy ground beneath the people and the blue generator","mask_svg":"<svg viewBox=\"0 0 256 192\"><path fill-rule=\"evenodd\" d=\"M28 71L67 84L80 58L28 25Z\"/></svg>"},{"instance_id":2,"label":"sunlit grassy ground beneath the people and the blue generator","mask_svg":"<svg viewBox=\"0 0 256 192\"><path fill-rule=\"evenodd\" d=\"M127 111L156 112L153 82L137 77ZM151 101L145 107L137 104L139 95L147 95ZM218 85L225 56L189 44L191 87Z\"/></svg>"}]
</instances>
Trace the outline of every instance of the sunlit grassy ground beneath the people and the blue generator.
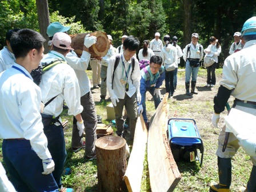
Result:
<instances>
[{"instance_id":1,"label":"sunlit grassy ground beneath the people and the blue generator","mask_svg":"<svg viewBox=\"0 0 256 192\"><path fill-rule=\"evenodd\" d=\"M91 71L87 71L89 77ZM217 85L213 88L207 88L206 85L206 70L200 69L197 79L198 95L189 97L185 95L185 72L179 70L178 73L178 87L175 90L174 97L169 99L170 109L169 118L193 118L197 122L199 132L203 140L205 148L203 165L199 167L199 162L177 162L182 179L179 181L174 191L209 191L211 181L218 181L217 173L217 156L215 151L218 145L218 128L211 125L211 115L213 114L213 97L218 91L218 82L222 76L222 69L216 71ZM161 93L165 94L165 85L161 87ZM106 120L106 105L110 102L99 102L99 89L92 90L94 101L96 105L97 114L101 115L103 123L109 125ZM234 98L230 98L229 103L232 105ZM154 103L151 95L147 95L147 115L152 117L154 114ZM222 126L223 117L226 111L221 114L221 121L219 127ZM68 120L68 128L65 130L67 161L66 167L71 167L71 175L63 176L63 185L66 187L73 187L75 191L97 191L97 161L85 161L83 158L84 150L78 153L71 151L71 130L72 118L67 116L67 111L62 113L62 119ZM129 145L132 141L127 140ZM2 145L2 142L1 144ZM1 147L1 146L0 146ZM0 161L2 162L2 150L0 151ZM237 155L232 159L233 163L233 182L231 184L232 191L238 191L238 187L246 185L247 179L250 175L252 163L250 157L247 156L243 150L239 149ZM3 162L4 165L4 162ZM149 185L149 172L147 170L147 159L145 157L144 172L142 177L141 191L151 191Z\"/></svg>"}]
</instances>

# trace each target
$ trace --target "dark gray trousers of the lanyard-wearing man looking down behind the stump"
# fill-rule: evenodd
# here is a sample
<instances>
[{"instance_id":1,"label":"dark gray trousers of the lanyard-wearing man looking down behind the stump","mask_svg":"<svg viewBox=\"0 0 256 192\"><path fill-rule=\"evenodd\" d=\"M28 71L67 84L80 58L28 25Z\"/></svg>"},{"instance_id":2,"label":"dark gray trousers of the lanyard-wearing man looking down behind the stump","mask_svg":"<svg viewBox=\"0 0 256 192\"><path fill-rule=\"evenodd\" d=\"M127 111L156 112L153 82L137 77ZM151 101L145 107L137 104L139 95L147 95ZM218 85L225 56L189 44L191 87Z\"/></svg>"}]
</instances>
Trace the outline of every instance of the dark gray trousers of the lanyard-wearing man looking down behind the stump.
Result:
<instances>
[{"instance_id":1,"label":"dark gray trousers of the lanyard-wearing man looking down behind the stump","mask_svg":"<svg viewBox=\"0 0 256 192\"><path fill-rule=\"evenodd\" d=\"M137 99L136 99L136 93L133 94L133 96L129 97L127 94L125 94L124 99L119 99L119 102L117 102L117 106L114 107L115 110L115 123L117 125L117 135L122 136L123 135L123 106L125 106L125 109L127 111L127 115L129 116L129 127L131 131L131 139L134 138L135 133L135 127L137 123Z\"/></svg>"}]
</instances>

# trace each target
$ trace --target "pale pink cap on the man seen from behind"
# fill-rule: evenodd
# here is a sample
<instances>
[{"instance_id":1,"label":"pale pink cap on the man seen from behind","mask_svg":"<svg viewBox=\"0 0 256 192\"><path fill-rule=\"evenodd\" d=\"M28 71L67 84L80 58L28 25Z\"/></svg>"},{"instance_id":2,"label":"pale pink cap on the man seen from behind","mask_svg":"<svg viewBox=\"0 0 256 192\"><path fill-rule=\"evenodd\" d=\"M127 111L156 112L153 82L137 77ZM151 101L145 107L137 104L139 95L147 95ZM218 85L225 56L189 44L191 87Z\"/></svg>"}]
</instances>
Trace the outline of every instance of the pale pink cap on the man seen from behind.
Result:
<instances>
[{"instance_id":1,"label":"pale pink cap on the man seen from behind","mask_svg":"<svg viewBox=\"0 0 256 192\"><path fill-rule=\"evenodd\" d=\"M74 50L70 46L71 45L71 38L66 33L62 33L62 32L55 33L51 42L53 42L53 45L55 47L58 47L60 49Z\"/></svg>"}]
</instances>

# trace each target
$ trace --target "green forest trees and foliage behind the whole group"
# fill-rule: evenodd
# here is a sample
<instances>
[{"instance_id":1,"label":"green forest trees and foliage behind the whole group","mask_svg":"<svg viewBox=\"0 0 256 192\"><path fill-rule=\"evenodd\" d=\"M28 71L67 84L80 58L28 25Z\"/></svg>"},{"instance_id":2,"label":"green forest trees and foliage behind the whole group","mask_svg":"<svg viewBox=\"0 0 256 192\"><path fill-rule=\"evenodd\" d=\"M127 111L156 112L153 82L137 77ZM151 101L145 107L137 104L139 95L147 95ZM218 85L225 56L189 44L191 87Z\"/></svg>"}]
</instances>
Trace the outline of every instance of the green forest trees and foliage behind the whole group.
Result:
<instances>
[{"instance_id":1,"label":"green forest trees and foliage behind the whole group","mask_svg":"<svg viewBox=\"0 0 256 192\"><path fill-rule=\"evenodd\" d=\"M9 29L30 28L47 39L47 26L58 21L71 26L69 34L105 31L112 35L114 47L121 45L124 34L138 37L141 47L145 39L154 38L155 32L161 34L161 39L175 35L182 49L190 43L191 33L199 34L204 48L215 36L222 45L222 66L234 41L233 34L254 15L255 0L1 0L0 49L5 46ZM50 20L43 29L39 23L47 21L45 18Z\"/></svg>"}]
</instances>

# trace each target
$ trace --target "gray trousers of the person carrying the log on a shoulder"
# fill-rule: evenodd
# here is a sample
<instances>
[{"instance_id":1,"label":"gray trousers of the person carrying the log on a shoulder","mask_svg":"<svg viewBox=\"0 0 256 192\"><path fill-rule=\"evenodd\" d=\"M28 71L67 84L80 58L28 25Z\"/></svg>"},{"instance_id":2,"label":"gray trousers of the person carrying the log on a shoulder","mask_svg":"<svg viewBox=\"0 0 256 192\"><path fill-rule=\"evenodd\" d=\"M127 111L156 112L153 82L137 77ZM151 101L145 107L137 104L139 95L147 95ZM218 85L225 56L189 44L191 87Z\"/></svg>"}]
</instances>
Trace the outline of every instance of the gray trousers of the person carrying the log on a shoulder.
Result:
<instances>
[{"instance_id":1,"label":"gray trousers of the person carrying the log on a shoulder","mask_svg":"<svg viewBox=\"0 0 256 192\"><path fill-rule=\"evenodd\" d=\"M85 124L85 155L93 156L96 154L95 141L97 140L96 129L97 129L97 114L95 110L95 103L93 101L93 95L91 91L81 97L81 105L83 106L83 111L81 113L83 118L83 123ZM73 133L72 133L72 147L82 146L83 135L79 136L79 131L77 129L77 121L74 118L73 121Z\"/></svg>"}]
</instances>

